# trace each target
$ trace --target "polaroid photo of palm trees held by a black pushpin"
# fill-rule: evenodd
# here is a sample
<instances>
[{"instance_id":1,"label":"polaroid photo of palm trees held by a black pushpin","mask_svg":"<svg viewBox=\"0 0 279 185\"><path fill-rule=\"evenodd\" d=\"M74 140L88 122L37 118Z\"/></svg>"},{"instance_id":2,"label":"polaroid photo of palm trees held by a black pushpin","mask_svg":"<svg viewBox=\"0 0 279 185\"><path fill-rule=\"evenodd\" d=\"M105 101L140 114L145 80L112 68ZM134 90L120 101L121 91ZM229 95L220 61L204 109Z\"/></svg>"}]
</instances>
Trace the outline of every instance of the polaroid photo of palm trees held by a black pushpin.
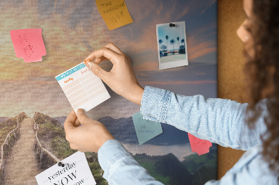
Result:
<instances>
[{"instance_id":1,"label":"polaroid photo of palm trees held by a black pushpin","mask_svg":"<svg viewBox=\"0 0 279 185\"><path fill-rule=\"evenodd\" d=\"M188 65L185 22L156 25L159 70Z\"/></svg>"}]
</instances>

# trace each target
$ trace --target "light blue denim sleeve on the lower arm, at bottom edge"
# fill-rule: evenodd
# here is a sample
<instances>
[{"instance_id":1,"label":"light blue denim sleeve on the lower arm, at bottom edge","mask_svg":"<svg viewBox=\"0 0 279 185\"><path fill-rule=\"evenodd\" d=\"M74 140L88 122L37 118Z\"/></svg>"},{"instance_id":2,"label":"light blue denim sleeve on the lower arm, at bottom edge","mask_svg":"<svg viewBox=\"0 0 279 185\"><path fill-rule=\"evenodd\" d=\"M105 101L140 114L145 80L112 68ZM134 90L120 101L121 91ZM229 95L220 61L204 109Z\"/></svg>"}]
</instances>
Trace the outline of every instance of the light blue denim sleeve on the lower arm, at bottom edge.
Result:
<instances>
[{"instance_id":1,"label":"light blue denim sleeve on the lower arm, at bottom edge","mask_svg":"<svg viewBox=\"0 0 279 185\"><path fill-rule=\"evenodd\" d=\"M117 140L107 140L100 147L98 161L109 184L162 184L151 177Z\"/></svg>"}]
</instances>

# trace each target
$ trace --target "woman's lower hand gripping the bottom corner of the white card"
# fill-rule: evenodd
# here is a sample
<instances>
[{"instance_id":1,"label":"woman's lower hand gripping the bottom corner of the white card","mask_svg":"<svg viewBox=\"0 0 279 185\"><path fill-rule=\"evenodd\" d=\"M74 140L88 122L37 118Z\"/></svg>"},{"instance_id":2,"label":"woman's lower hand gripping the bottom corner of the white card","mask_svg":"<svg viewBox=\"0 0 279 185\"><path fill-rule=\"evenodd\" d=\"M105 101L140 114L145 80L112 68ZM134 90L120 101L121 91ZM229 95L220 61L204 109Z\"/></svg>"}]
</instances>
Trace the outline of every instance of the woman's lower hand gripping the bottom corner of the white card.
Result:
<instances>
[{"instance_id":1,"label":"woman's lower hand gripping the bottom corner of the white card","mask_svg":"<svg viewBox=\"0 0 279 185\"><path fill-rule=\"evenodd\" d=\"M80 152L98 152L107 140L114 139L103 123L91 120L82 109L78 109L77 114L70 112L64 129L70 147Z\"/></svg>"}]
</instances>

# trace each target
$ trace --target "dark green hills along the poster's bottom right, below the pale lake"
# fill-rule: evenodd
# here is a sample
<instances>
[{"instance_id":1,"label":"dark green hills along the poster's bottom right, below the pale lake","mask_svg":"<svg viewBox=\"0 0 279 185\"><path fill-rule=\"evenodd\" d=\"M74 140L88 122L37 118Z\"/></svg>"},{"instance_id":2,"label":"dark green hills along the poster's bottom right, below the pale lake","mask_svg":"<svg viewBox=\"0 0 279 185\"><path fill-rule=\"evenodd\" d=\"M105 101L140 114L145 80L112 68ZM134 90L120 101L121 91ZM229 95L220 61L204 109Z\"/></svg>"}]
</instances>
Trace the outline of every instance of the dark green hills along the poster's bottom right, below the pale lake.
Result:
<instances>
[{"instance_id":1,"label":"dark green hills along the poster's bottom right, below the pale lake","mask_svg":"<svg viewBox=\"0 0 279 185\"><path fill-rule=\"evenodd\" d=\"M135 154L135 160L149 171L149 174L163 184L190 184L202 185L212 179L217 179L217 146L209 154L198 156L193 154L185 156L181 162L174 154L163 156L149 156ZM208 160L208 161L207 161ZM193 162L193 167L188 169L186 164Z\"/></svg>"}]
</instances>

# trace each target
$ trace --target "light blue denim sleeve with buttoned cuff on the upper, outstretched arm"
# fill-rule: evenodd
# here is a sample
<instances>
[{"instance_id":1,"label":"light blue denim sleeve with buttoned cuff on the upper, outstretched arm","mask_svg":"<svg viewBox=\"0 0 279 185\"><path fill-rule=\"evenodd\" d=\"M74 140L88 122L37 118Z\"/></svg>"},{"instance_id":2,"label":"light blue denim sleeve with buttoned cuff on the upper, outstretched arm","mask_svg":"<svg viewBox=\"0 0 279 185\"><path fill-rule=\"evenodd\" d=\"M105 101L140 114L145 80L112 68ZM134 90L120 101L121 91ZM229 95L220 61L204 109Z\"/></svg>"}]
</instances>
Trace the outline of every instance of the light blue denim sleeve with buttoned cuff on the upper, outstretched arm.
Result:
<instances>
[{"instance_id":1,"label":"light blue denim sleeve with buttoned cuff on the upper, outstretched arm","mask_svg":"<svg viewBox=\"0 0 279 185\"><path fill-rule=\"evenodd\" d=\"M144 119L170 124L197 138L248 150L262 143L260 136L266 127L261 117L254 129L248 128L247 106L229 99L175 95L169 90L146 86L141 113Z\"/></svg>"}]
</instances>

